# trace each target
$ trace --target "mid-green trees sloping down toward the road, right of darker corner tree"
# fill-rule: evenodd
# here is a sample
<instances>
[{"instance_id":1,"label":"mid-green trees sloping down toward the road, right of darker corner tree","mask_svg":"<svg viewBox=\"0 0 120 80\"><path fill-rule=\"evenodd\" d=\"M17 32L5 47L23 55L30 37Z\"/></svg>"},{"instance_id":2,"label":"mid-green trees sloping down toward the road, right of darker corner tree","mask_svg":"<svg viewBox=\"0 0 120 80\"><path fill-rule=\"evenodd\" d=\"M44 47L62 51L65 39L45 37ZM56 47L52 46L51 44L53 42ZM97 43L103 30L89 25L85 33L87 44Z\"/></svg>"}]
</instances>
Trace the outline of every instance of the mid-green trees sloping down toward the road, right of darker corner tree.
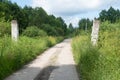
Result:
<instances>
[{"instance_id":1,"label":"mid-green trees sloping down toward the road, right of darker corner tree","mask_svg":"<svg viewBox=\"0 0 120 80\"><path fill-rule=\"evenodd\" d=\"M28 26L35 25L43 29L50 36L64 36L67 31L67 26L61 17L56 18L53 15L48 15L42 8L24 7L23 9L28 16ZM30 14L31 13L31 14Z\"/></svg>"}]
</instances>

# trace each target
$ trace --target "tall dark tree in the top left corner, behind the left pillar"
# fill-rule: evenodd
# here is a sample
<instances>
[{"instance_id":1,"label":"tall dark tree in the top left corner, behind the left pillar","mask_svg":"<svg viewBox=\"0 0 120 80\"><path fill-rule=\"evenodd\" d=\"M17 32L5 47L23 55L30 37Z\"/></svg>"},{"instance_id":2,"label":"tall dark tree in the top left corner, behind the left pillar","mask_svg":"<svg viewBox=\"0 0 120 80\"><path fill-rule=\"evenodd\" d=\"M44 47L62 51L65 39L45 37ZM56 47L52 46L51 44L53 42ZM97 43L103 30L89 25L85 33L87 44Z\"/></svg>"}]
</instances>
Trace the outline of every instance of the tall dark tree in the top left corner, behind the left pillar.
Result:
<instances>
[{"instance_id":1,"label":"tall dark tree in the top left corner, behind the left pillar","mask_svg":"<svg viewBox=\"0 0 120 80\"><path fill-rule=\"evenodd\" d=\"M0 2L0 18L5 17L5 21L17 20L20 26L20 32L27 27L27 16L22 8L11 1Z\"/></svg>"}]
</instances>

